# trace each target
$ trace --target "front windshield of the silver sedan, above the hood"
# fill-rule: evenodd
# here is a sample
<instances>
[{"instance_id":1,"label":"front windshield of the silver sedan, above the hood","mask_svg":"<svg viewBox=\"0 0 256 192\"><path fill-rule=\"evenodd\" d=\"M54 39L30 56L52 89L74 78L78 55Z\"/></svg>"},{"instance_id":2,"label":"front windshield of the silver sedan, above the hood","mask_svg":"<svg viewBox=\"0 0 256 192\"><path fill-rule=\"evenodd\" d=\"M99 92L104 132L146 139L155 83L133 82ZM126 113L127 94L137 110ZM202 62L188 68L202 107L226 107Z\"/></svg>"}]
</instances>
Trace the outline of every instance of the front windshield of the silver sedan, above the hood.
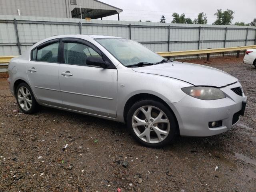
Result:
<instances>
[{"instance_id":1,"label":"front windshield of the silver sedan, above the hood","mask_svg":"<svg viewBox=\"0 0 256 192\"><path fill-rule=\"evenodd\" d=\"M124 66L139 62L157 63L164 58L138 42L123 38L94 39L108 50Z\"/></svg>"}]
</instances>

